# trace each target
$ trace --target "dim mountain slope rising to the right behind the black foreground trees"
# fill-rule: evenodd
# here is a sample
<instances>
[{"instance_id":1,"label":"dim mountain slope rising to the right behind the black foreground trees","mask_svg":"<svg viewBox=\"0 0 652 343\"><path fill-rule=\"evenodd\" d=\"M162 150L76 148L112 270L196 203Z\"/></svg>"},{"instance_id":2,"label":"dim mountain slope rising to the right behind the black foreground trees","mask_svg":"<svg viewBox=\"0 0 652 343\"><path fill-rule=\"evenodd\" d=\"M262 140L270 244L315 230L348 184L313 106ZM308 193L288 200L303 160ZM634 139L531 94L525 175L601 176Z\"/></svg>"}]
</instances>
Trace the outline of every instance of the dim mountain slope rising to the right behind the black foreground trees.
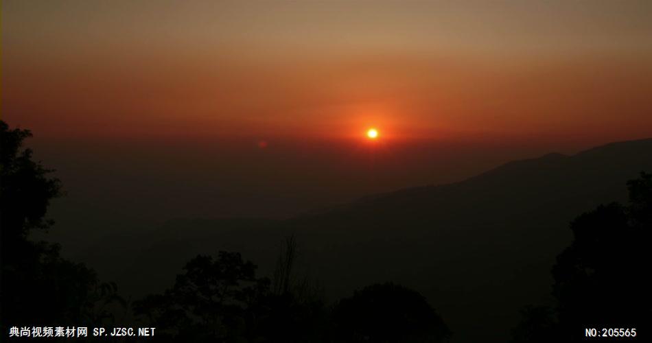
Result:
<instances>
[{"instance_id":1,"label":"dim mountain slope rising to the right behind the black foreground trees","mask_svg":"<svg viewBox=\"0 0 652 343\"><path fill-rule=\"evenodd\" d=\"M549 300L570 220L625 200L625 182L642 170L652 170L652 139L515 161L286 221L174 220L142 237L107 237L86 260L139 296L170 285L189 258L218 250L241 252L269 273L283 237L295 233L302 268L329 296L400 283L428 298L454 342L504 342L520 307ZM98 256L107 241L111 258Z\"/></svg>"}]
</instances>

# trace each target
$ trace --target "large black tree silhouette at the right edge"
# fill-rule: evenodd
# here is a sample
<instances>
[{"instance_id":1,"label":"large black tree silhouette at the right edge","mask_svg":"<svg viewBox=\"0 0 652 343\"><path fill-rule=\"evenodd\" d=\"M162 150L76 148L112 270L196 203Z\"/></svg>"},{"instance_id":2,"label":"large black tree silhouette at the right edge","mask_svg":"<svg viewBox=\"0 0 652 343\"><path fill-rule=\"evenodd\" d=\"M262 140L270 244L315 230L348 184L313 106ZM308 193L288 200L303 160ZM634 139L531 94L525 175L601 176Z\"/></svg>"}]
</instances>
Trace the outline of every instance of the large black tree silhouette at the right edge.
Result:
<instances>
[{"instance_id":1,"label":"large black tree silhouette at the right edge","mask_svg":"<svg viewBox=\"0 0 652 343\"><path fill-rule=\"evenodd\" d=\"M552 268L557 305L554 310L525 311L513 331L516 342L535 342L550 333L585 340L585 328L649 327L652 175L643 172L627 187L628 206L601 205L571 222L572 244Z\"/></svg>"}]
</instances>

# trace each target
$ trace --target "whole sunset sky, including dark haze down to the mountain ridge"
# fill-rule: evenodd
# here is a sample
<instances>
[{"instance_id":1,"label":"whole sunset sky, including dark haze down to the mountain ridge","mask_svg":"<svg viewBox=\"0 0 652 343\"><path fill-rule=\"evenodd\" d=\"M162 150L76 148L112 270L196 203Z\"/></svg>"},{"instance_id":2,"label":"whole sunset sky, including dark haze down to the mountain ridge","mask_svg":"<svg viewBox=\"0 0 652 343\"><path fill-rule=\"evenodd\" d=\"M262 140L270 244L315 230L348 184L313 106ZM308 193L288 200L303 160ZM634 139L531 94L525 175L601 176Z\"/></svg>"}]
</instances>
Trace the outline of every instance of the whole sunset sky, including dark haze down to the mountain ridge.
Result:
<instances>
[{"instance_id":1,"label":"whole sunset sky, including dark haze down to the mountain ridge","mask_svg":"<svg viewBox=\"0 0 652 343\"><path fill-rule=\"evenodd\" d=\"M287 215L652 137L651 1L5 0L1 14L2 119L34 131L75 217Z\"/></svg>"}]
</instances>

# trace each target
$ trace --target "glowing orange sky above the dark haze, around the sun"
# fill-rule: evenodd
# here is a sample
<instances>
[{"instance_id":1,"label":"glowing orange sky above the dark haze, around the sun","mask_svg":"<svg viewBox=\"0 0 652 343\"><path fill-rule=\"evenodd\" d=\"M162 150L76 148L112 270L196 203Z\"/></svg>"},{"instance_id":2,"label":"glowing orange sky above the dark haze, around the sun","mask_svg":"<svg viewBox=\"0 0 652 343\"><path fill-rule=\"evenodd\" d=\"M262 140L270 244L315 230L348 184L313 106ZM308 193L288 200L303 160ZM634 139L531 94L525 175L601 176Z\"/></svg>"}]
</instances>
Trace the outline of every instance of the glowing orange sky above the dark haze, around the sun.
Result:
<instances>
[{"instance_id":1,"label":"glowing orange sky above the dark haze, around the sun","mask_svg":"<svg viewBox=\"0 0 652 343\"><path fill-rule=\"evenodd\" d=\"M460 2L3 1L1 114L41 137L652 136L649 1Z\"/></svg>"}]
</instances>

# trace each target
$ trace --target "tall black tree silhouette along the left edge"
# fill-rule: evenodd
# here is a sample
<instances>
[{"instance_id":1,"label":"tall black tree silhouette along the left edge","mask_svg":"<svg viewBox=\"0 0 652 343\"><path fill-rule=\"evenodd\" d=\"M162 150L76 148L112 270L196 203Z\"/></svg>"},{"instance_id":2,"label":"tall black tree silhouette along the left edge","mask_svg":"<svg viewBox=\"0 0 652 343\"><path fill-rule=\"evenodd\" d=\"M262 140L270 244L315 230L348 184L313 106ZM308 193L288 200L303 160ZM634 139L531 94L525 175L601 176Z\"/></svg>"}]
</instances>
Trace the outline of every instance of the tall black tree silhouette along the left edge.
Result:
<instances>
[{"instance_id":1,"label":"tall black tree silhouette along the left edge","mask_svg":"<svg viewBox=\"0 0 652 343\"><path fill-rule=\"evenodd\" d=\"M100 283L82 263L60 257L60 246L30 240L32 230L54 222L45 215L61 195L60 181L23 148L29 130L10 129L0 121L0 323L99 324L110 318L104 307L122 300L115 284Z\"/></svg>"}]
</instances>

